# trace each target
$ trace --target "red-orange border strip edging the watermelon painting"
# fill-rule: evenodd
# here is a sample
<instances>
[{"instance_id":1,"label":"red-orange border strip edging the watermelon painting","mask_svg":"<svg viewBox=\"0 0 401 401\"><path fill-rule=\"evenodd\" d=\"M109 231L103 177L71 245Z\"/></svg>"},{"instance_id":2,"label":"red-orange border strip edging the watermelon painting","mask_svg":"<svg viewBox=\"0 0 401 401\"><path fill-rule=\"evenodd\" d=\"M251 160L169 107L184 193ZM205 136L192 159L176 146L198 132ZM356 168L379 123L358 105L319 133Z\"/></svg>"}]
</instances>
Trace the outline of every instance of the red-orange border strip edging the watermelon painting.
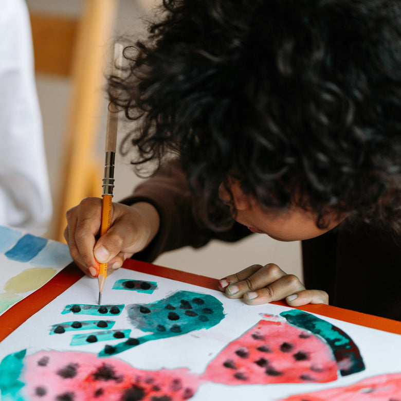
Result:
<instances>
[{"instance_id":1,"label":"red-orange border strip edging the watermelon painting","mask_svg":"<svg viewBox=\"0 0 401 401\"><path fill-rule=\"evenodd\" d=\"M133 259L127 259L124 262L123 267L166 279L217 290L217 279L195 275L186 271L175 270L151 263L139 262ZM81 277L83 277L81 270L79 270L74 263L71 263L44 286L9 308L2 316L0 316L0 341L4 340L4 338L11 334L18 326L24 323L25 320L37 313L54 298L57 298L72 284L76 283ZM286 306L286 304L282 301L272 303ZM298 309L333 319L358 324L360 326L371 327L372 329L401 334L401 322L396 320L385 319L322 304L304 305Z\"/></svg>"}]
</instances>

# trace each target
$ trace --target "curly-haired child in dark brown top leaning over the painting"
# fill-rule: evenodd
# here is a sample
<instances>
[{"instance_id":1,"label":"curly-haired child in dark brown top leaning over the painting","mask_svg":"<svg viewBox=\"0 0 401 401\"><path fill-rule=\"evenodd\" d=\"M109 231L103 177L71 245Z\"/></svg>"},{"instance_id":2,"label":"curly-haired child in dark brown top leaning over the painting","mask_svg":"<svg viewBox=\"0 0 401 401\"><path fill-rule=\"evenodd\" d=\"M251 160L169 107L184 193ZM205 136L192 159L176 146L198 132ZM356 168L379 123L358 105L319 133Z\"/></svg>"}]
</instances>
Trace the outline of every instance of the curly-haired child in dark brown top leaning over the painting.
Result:
<instances>
[{"instance_id":1,"label":"curly-haired child in dark brown top leaning over the painting","mask_svg":"<svg viewBox=\"0 0 401 401\"><path fill-rule=\"evenodd\" d=\"M230 298L299 306L329 293L401 318L401 2L163 6L148 40L125 49L124 79L109 80L137 122L125 150L138 170L161 167L114 204L98 241L99 199L67 213L78 265L96 277L98 262L266 233L304 240L305 285L320 289L269 263L222 279Z\"/></svg>"}]
</instances>

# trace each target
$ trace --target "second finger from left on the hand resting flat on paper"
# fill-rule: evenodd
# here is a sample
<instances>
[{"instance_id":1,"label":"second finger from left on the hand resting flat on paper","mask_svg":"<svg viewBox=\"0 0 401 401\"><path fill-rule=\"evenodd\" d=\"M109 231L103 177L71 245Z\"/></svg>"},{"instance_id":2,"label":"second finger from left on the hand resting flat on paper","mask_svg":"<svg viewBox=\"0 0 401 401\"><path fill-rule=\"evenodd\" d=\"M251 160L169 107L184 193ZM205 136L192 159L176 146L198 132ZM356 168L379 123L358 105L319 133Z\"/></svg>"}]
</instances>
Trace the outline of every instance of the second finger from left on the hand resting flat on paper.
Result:
<instances>
[{"instance_id":1,"label":"second finger from left on the hand resting flat on paper","mask_svg":"<svg viewBox=\"0 0 401 401\"><path fill-rule=\"evenodd\" d=\"M260 288L264 288L272 283L275 283L280 278L286 276L286 273L274 263L269 263L260 268L257 268L258 265L253 265L250 267L255 269L256 271L251 276L246 277L242 281L230 284L226 288L227 297L234 299L241 298L246 293L256 291ZM249 269L249 271L252 271L252 269ZM237 274L236 276L238 276L240 279L244 277L243 271L240 271L240 273ZM286 295L289 294L292 293L287 293Z\"/></svg>"}]
</instances>

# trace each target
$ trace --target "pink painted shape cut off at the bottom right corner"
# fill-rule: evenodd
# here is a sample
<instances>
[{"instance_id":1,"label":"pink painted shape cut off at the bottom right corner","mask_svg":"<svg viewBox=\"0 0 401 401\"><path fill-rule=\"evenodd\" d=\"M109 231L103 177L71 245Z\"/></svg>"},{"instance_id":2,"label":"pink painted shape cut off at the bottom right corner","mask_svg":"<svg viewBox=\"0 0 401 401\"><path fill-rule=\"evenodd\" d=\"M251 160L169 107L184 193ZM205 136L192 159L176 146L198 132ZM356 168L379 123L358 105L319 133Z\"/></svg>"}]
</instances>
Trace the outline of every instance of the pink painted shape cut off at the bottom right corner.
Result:
<instances>
[{"instance_id":1,"label":"pink painted shape cut off at the bottom right corner","mask_svg":"<svg viewBox=\"0 0 401 401\"><path fill-rule=\"evenodd\" d=\"M401 401L401 373L380 375L354 385L291 395L280 401Z\"/></svg>"}]
</instances>

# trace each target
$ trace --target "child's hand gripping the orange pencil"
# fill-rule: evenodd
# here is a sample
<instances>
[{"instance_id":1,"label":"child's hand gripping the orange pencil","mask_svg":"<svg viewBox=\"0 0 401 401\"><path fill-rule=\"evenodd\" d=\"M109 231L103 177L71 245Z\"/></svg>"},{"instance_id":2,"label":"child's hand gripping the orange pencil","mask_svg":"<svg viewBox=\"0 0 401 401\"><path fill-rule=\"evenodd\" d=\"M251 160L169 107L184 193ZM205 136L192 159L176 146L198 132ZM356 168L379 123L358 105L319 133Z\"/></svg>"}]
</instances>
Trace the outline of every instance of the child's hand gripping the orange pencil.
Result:
<instances>
[{"instance_id":1,"label":"child's hand gripping the orange pencil","mask_svg":"<svg viewBox=\"0 0 401 401\"><path fill-rule=\"evenodd\" d=\"M152 205L113 203L111 227L97 239L101 214L102 200L95 197L81 200L66 214L64 238L71 257L91 277L98 276L100 263L107 263L110 272L121 267L125 259L144 249L159 229L159 215Z\"/></svg>"}]
</instances>

